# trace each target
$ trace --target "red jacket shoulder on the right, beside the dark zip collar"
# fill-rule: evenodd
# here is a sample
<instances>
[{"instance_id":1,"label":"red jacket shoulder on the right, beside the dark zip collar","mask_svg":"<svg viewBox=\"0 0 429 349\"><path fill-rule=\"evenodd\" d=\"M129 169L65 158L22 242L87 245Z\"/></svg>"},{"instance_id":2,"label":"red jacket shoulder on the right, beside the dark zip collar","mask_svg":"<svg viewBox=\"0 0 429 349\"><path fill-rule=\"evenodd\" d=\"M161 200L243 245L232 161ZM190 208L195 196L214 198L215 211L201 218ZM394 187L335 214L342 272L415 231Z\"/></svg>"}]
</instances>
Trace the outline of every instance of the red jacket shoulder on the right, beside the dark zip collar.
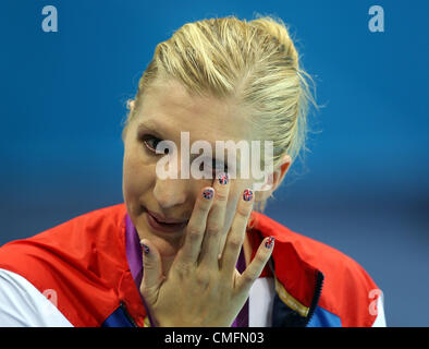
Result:
<instances>
[{"instance_id":1,"label":"red jacket shoulder on the right, beside the dark zip collar","mask_svg":"<svg viewBox=\"0 0 429 349\"><path fill-rule=\"evenodd\" d=\"M298 262L291 265L303 266L303 275L307 270L323 274L318 306L339 316L343 326L372 325L376 316L370 312L375 301L371 294L379 289L359 263L338 249L292 231L268 216L257 213L255 218L256 228L263 237L275 237L274 251L282 249L278 255L295 254Z\"/></svg>"}]
</instances>

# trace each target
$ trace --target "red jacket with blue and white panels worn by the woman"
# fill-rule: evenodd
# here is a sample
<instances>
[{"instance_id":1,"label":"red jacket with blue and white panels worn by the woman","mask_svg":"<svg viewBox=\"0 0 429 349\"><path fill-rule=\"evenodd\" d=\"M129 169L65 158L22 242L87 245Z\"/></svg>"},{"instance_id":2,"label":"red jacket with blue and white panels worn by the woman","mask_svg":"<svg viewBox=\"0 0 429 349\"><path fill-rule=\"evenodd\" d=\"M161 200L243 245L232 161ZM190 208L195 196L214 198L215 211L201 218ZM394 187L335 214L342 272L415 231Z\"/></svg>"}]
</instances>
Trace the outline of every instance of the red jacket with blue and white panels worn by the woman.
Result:
<instances>
[{"instance_id":1,"label":"red jacket with blue and white panels worn by the woman","mask_svg":"<svg viewBox=\"0 0 429 349\"><path fill-rule=\"evenodd\" d=\"M125 255L125 205L97 209L0 249L0 268L37 290L56 290L57 308L73 326L147 325ZM275 238L272 326L371 326L378 289L352 258L253 212L256 250ZM45 294L45 293L44 293ZM372 306L373 308L373 306ZM146 322L145 322L146 318Z\"/></svg>"}]
</instances>

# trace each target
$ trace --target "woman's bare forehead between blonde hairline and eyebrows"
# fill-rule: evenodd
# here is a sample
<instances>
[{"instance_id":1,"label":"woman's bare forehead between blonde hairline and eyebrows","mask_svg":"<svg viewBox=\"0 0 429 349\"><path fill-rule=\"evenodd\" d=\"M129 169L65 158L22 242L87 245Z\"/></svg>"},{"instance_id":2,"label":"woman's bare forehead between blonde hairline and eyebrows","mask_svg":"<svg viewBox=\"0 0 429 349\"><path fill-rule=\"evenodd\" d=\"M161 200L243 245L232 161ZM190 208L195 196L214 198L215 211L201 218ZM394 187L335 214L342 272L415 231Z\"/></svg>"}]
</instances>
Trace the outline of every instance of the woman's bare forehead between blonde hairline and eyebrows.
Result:
<instances>
[{"instance_id":1,"label":"woman's bare forehead between blonde hairline and eyebrows","mask_svg":"<svg viewBox=\"0 0 429 349\"><path fill-rule=\"evenodd\" d=\"M163 136L189 132L191 141L252 140L255 130L248 116L233 100L189 96L182 86L168 84L151 89L137 116L138 128L157 130Z\"/></svg>"}]
</instances>

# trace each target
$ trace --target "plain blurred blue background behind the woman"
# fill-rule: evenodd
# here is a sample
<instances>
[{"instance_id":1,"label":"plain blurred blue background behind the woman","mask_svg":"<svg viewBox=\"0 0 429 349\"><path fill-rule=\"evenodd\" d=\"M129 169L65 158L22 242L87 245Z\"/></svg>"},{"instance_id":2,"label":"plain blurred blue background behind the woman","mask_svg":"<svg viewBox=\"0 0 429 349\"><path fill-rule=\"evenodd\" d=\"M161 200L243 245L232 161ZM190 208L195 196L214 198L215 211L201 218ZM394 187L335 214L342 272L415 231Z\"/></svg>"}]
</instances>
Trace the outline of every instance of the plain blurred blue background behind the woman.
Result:
<instances>
[{"instance_id":1,"label":"plain blurred blue background behind the woman","mask_svg":"<svg viewBox=\"0 0 429 349\"><path fill-rule=\"evenodd\" d=\"M58 10L58 33L41 9ZM368 29L373 4L384 33ZM186 22L291 25L324 107L266 214L363 265L391 326L429 325L427 1L3 1L0 244L123 202L125 100Z\"/></svg>"}]
</instances>

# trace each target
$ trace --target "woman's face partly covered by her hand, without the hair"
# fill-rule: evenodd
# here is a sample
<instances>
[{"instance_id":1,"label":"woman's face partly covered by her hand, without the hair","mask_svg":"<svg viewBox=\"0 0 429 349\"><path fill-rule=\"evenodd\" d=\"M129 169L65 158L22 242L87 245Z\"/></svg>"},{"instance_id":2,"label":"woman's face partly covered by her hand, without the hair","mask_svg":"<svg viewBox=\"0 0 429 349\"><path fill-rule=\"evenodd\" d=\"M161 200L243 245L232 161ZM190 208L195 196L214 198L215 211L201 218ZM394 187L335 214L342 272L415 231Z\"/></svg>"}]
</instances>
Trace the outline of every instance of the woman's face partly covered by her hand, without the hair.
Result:
<instances>
[{"instance_id":1,"label":"woman's face partly covered by her hand, without the hair","mask_svg":"<svg viewBox=\"0 0 429 349\"><path fill-rule=\"evenodd\" d=\"M186 227L169 232L154 229L147 210L167 219L186 221L192 215L196 195L216 180L196 179L191 172L187 179L182 179L181 161L187 161L185 165L191 168L193 155L181 153L181 131L188 132L189 146L196 141L207 141L213 149L213 159L217 156L216 141L249 142L256 134L233 103L191 97L176 82L163 83L145 93L142 107L128 124L124 140L123 195L139 238L149 239L164 257L176 254L184 242ZM176 145L176 179L157 176L157 164L166 155L156 154L154 148L164 140ZM230 166L226 155L223 163ZM212 177L216 177L214 168ZM246 188L252 189L252 178L240 178L240 171L235 179L231 179L224 238L235 215L238 194Z\"/></svg>"}]
</instances>

